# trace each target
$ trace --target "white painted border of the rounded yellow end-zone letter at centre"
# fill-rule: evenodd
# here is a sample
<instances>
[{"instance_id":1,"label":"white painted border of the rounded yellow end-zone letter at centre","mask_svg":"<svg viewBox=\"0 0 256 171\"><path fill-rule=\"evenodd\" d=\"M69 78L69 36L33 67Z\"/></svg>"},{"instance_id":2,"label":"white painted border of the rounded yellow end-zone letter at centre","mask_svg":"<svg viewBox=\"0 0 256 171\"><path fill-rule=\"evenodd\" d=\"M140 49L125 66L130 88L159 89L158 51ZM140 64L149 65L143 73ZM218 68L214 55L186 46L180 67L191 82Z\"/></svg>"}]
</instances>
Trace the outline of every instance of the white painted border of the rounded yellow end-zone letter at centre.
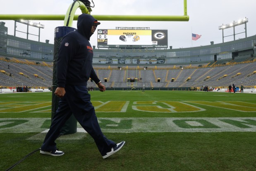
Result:
<instances>
[{"instance_id":1,"label":"white painted border of the rounded yellow end-zone letter at centre","mask_svg":"<svg viewBox=\"0 0 256 171\"><path fill-rule=\"evenodd\" d=\"M138 104L137 102L140 102L140 101L134 101L133 104ZM156 112L156 113L159 113L159 111L141 110L141 109L138 109L138 108L137 108L138 106L155 106L155 107L157 107L157 108L159 108L159 109L166 109L166 110L169 110L170 112L177 112L177 111L175 110L175 107L174 107L174 106L172 106L172 105L170 105L170 104L167 104L167 103L164 103L163 101L153 101L151 104L156 104L157 102L163 103L163 104L167 105L169 108L163 108L162 106L159 106L159 105L150 105L150 104L144 105L144 104L138 104L138 105L132 105L132 109L133 109L133 110L137 110L137 111L143 111L143 112ZM193 107L193 108L199 109L199 110L196 110L196 111L182 111L182 112L201 112L201 111L205 111L205 109L200 108L200 107L197 107L197 106L194 106L194 105L191 105L191 104L183 103L183 102L181 102L181 101L175 101L175 102L179 102L179 103L182 103L182 104L184 104L184 105L189 105L189 106L191 106L191 107ZM161 111L161 112L163 112L163 111ZM163 113L169 113L169 112L163 112Z\"/></svg>"}]
</instances>

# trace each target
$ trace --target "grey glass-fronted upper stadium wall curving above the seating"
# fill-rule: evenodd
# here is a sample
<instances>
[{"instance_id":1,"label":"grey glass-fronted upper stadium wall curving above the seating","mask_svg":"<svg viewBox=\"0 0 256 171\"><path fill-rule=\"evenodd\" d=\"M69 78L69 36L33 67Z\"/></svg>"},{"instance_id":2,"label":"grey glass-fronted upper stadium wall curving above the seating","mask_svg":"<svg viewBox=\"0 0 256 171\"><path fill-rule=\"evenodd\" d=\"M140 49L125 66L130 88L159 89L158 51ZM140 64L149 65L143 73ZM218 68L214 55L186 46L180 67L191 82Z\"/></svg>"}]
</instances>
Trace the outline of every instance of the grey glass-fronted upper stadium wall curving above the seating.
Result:
<instances>
[{"instance_id":1,"label":"grey glass-fronted upper stadium wall curving above the seating","mask_svg":"<svg viewBox=\"0 0 256 171\"><path fill-rule=\"evenodd\" d=\"M53 44L8 35L8 28L0 26L0 55L23 59L53 61ZM209 42L210 43L210 42ZM230 42L179 49L96 49L93 46L93 64L163 65L195 64L217 60L234 60L242 56L256 56L256 35ZM171 46L170 46L171 47Z\"/></svg>"}]
</instances>

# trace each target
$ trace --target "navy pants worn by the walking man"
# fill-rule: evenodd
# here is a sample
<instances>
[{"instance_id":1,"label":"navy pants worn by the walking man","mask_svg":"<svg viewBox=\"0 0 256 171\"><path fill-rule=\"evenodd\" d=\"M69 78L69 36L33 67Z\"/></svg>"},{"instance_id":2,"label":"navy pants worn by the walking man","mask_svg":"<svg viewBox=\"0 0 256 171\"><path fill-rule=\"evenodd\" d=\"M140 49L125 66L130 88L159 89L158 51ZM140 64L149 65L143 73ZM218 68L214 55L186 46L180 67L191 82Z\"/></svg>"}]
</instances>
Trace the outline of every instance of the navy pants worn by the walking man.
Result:
<instances>
[{"instance_id":1,"label":"navy pants worn by the walking man","mask_svg":"<svg viewBox=\"0 0 256 171\"><path fill-rule=\"evenodd\" d=\"M106 155L106 152L110 152L116 143L103 135L86 85L66 85L65 91L66 94L60 99L59 107L53 117L50 130L45 136L41 150L57 149L55 140L60 135L62 126L73 113L79 124L94 139L100 154Z\"/></svg>"}]
</instances>

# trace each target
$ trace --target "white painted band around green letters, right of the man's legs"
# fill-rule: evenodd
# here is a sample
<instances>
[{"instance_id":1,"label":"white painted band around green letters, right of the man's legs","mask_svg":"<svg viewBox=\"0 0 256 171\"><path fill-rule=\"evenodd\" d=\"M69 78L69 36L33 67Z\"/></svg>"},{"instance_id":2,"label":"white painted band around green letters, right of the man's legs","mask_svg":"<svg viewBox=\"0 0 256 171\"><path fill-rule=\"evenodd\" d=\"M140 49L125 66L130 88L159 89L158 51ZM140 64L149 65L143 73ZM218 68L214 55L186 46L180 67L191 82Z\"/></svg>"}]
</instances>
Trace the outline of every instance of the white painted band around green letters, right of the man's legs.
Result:
<instances>
[{"instance_id":1,"label":"white painted band around green letters, right of the man's legs","mask_svg":"<svg viewBox=\"0 0 256 171\"><path fill-rule=\"evenodd\" d=\"M111 132L111 133L132 133L132 132L236 132L236 131L252 131L256 132L256 126L254 125L248 125L249 128L240 128L237 126L234 126L232 124L228 124L226 122L222 122L220 119L232 119L237 120L241 122L245 122L243 119L252 119L256 121L256 117L239 117L239 118L224 118L224 117L218 117L218 118L98 118L100 119L109 119L113 122L120 123L122 120L132 120L132 126L131 128L127 129L117 129L111 127L111 126L102 126L103 132ZM183 120L184 122L189 122L188 124L191 126L191 128L182 128L175 124L173 122L174 120ZM189 121L188 121L189 120ZM198 122L198 120L203 120L206 122L209 122L213 125L215 125L217 128L206 128L203 123ZM193 122L193 123L192 123ZM197 125L195 125L197 122ZM191 125L192 123L192 125ZM202 127L200 128L200 126ZM193 126L197 126L196 128L193 128ZM109 127L109 128L108 128Z\"/></svg>"}]
</instances>

